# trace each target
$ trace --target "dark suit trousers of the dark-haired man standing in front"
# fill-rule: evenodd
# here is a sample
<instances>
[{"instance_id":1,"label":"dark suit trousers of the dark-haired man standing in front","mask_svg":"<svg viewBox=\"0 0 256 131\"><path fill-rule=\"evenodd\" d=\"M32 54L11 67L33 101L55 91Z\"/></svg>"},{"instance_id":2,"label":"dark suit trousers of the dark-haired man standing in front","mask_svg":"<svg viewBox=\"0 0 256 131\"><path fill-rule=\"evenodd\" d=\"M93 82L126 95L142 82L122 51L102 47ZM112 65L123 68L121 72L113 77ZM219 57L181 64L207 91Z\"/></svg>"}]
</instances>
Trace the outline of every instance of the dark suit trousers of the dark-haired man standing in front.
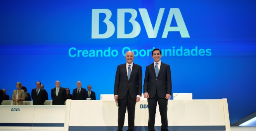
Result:
<instances>
[{"instance_id":1,"label":"dark suit trousers of the dark-haired man standing in front","mask_svg":"<svg viewBox=\"0 0 256 131\"><path fill-rule=\"evenodd\" d=\"M153 98L148 98L147 102L149 104L149 131L155 131L155 119L156 119L156 104L158 102L159 112L161 115L161 131L168 131L168 120L167 120L167 104L168 99L159 98L157 93Z\"/></svg>"}]
</instances>

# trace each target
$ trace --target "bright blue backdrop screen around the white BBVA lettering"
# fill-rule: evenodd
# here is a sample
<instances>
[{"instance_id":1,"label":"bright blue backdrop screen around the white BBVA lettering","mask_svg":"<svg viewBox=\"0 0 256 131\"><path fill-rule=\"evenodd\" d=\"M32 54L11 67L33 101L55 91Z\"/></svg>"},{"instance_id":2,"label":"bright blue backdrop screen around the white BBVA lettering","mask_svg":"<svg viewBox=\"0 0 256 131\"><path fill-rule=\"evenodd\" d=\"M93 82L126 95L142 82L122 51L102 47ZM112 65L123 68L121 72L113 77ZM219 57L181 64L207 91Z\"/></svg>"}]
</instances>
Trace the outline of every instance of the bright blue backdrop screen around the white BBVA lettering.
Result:
<instances>
[{"instance_id":1,"label":"bright blue backdrop screen around the white BBVA lettering","mask_svg":"<svg viewBox=\"0 0 256 131\"><path fill-rule=\"evenodd\" d=\"M56 80L62 87L92 85L97 99L113 94L118 64L125 63L123 47L131 49L211 49L211 56L163 56L170 64L172 92L193 93L193 99L228 99L230 123L256 111L256 1L254 0L2 0L0 1L0 88L12 96L16 82L28 92L36 81L45 85L49 99ZM91 39L92 9L111 10L117 30L117 9L133 8L141 32L133 39ZM159 8L165 8L156 39L149 39L138 8L146 8L154 27ZM179 8L190 38L169 32L161 38L170 8ZM132 30L126 17L126 33ZM100 15L100 33L106 32ZM175 20L171 26L175 26ZM69 57L71 47L118 50L117 57ZM135 57L145 67L149 56ZM143 73L144 75L144 73ZM143 76L144 77L144 76Z\"/></svg>"}]
</instances>

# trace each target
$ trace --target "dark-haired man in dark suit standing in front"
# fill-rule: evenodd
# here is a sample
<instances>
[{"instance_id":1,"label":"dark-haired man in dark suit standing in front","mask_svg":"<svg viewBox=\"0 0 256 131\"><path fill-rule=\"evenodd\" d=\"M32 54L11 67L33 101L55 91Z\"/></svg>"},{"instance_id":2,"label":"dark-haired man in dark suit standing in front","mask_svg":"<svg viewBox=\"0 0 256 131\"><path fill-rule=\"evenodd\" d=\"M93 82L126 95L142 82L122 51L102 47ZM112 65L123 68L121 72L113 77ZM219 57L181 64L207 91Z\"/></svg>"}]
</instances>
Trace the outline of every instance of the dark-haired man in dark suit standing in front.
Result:
<instances>
[{"instance_id":1,"label":"dark-haired man in dark suit standing in front","mask_svg":"<svg viewBox=\"0 0 256 131\"><path fill-rule=\"evenodd\" d=\"M152 50L154 63L148 65L145 72L144 97L149 104L149 131L155 131L157 102L161 115L161 131L168 131L167 104L171 98L171 69L168 64L161 62L161 57L161 50Z\"/></svg>"}]
</instances>

